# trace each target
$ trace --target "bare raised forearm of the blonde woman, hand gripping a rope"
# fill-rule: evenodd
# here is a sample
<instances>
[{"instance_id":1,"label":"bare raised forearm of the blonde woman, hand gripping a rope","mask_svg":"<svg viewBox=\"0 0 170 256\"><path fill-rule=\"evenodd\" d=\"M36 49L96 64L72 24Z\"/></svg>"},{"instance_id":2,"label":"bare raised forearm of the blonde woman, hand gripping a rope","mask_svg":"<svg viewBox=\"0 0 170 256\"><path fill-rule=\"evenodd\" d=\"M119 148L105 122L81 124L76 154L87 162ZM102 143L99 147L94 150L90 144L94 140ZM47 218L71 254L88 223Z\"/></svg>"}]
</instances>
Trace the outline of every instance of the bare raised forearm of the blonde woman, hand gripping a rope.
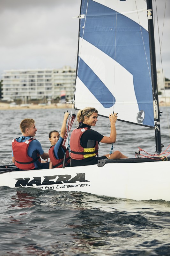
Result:
<instances>
[{"instance_id":1,"label":"bare raised forearm of the blonde woman, hand gripping a rope","mask_svg":"<svg viewBox=\"0 0 170 256\"><path fill-rule=\"evenodd\" d=\"M117 114L114 113L114 114L109 115L109 119L110 119L110 128L111 128L110 136L109 137L104 136L103 139L100 140L100 142L108 143L108 144L116 142L116 126L115 126L115 123L116 123L116 120L117 120Z\"/></svg>"}]
</instances>

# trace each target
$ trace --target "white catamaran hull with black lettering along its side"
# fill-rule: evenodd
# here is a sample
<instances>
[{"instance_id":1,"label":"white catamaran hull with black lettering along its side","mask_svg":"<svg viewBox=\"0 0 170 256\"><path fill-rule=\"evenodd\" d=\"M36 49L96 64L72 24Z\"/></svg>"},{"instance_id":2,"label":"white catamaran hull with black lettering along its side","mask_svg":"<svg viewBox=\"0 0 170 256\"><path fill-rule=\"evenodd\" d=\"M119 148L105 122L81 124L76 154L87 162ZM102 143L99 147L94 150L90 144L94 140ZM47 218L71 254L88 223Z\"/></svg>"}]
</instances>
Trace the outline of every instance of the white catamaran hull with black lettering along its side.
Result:
<instances>
[{"instance_id":1,"label":"white catamaran hull with black lettering along its side","mask_svg":"<svg viewBox=\"0 0 170 256\"><path fill-rule=\"evenodd\" d=\"M58 192L80 191L134 200L170 201L170 161L12 171L1 173L0 186L54 189Z\"/></svg>"}]
</instances>

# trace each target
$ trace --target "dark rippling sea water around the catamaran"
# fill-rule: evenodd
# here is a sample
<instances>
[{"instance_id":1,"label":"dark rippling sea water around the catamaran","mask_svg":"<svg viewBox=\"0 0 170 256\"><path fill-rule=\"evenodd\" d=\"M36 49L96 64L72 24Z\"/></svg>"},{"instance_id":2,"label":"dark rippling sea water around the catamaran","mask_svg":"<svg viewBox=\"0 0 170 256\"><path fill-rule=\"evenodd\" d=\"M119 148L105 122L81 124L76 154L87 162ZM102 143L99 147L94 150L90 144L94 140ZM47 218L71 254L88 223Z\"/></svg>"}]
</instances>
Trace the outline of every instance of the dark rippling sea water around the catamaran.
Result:
<instances>
[{"instance_id":1,"label":"dark rippling sea water around the catamaran","mask_svg":"<svg viewBox=\"0 0 170 256\"><path fill-rule=\"evenodd\" d=\"M170 144L166 108L161 108L162 143ZM19 123L34 118L45 152L48 132L60 131L65 109L0 111L0 164L11 164L11 140ZM170 117L170 108L167 115ZM96 130L108 136L108 122L98 118ZM73 124L73 128L76 126ZM154 130L116 123L115 150L134 157L138 147L154 153ZM110 145L100 145L100 156ZM0 188L0 255L170 255L170 202L134 201L80 192L35 188Z\"/></svg>"}]
</instances>

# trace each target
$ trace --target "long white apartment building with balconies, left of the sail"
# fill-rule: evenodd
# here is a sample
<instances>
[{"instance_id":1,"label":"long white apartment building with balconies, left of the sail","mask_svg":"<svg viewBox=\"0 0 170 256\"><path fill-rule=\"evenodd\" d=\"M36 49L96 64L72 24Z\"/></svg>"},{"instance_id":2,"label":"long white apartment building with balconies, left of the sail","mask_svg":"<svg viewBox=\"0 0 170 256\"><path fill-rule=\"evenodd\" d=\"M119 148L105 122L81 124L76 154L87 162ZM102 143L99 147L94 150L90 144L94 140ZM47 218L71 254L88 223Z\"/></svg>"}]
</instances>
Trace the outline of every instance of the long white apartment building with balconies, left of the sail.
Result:
<instances>
[{"instance_id":1,"label":"long white apartment building with balconies, left of the sail","mask_svg":"<svg viewBox=\"0 0 170 256\"><path fill-rule=\"evenodd\" d=\"M2 76L2 100L56 99L65 91L73 100L76 71L64 66L59 69L5 70Z\"/></svg>"}]
</instances>

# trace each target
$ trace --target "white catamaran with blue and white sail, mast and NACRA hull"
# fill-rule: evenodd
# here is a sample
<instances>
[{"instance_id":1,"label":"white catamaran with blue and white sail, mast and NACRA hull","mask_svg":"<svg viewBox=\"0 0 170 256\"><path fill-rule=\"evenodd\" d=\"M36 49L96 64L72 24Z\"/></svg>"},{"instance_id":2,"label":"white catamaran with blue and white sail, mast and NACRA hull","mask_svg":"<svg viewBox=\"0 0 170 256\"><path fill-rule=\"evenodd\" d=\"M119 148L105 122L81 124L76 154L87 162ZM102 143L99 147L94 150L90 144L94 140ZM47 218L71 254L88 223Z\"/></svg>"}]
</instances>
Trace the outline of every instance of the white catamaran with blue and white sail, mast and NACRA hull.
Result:
<instances>
[{"instance_id":1,"label":"white catamaran with blue and white sail, mast and NACRA hull","mask_svg":"<svg viewBox=\"0 0 170 256\"><path fill-rule=\"evenodd\" d=\"M17 171L9 165L0 172L0 186L170 201L170 157L161 154L152 0L82 0L77 18L75 109L94 107L104 117L116 109L117 120L154 128L157 156L137 152L136 158L65 169Z\"/></svg>"}]
</instances>

